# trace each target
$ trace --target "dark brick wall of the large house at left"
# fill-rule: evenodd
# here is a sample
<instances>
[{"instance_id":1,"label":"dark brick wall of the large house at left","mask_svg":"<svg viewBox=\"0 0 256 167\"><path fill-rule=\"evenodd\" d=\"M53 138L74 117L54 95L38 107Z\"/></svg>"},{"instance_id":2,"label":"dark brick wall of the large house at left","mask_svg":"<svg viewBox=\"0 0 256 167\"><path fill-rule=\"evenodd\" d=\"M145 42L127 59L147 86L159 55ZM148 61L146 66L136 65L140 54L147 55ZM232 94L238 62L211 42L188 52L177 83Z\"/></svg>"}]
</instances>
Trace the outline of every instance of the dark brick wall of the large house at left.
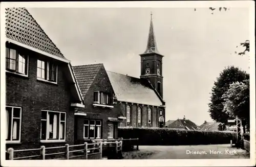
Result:
<instances>
[{"instance_id":1,"label":"dark brick wall of the large house at left","mask_svg":"<svg viewBox=\"0 0 256 167\"><path fill-rule=\"evenodd\" d=\"M71 93L62 66L58 65L57 85L37 80L37 58L46 58L32 51L29 55L28 77L6 73L6 105L22 107L21 144L7 144L7 148L29 149L39 148L41 110L66 112L66 141L74 140L74 112L70 107ZM65 145L65 143L43 144L46 147Z\"/></svg>"}]
</instances>

